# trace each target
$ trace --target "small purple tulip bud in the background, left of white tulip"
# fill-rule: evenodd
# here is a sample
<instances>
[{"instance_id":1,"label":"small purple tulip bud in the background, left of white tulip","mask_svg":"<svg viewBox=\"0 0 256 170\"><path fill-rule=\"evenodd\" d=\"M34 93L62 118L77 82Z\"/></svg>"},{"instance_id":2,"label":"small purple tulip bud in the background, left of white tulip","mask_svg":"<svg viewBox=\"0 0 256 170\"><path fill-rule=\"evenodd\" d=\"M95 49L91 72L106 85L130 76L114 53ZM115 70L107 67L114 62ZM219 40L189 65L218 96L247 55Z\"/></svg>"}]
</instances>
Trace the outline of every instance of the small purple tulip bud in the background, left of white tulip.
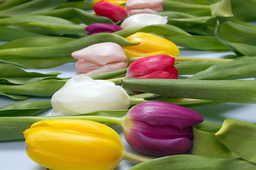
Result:
<instances>
[{"instance_id":1,"label":"small purple tulip bud in the background, left of white tulip","mask_svg":"<svg viewBox=\"0 0 256 170\"><path fill-rule=\"evenodd\" d=\"M122 30L121 26L117 26L110 23L92 23L89 26L85 27L89 33L87 35L92 35L96 33L114 33L118 30Z\"/></svg>"}]
</instances>

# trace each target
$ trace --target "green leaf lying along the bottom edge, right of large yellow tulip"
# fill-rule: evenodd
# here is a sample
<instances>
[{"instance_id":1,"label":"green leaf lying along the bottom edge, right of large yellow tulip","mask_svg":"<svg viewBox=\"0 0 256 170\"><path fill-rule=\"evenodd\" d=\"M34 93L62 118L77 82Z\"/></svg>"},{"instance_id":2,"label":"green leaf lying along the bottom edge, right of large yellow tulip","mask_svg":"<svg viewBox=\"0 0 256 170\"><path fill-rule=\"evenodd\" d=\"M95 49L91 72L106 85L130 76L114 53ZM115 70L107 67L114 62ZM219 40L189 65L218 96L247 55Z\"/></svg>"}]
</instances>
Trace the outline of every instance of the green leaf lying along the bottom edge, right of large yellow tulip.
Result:
<instances>
[{"instance_id":1,"label":"green leaf lying along the bottom edge, right of large yellow tulip","mask_svg":"<svg viewBox=\"0 0 256 170\"><path fill-rule=\"evenodd\" d=\"M161 157L133 166L129 170L220 170L220 169L247 169L255 170L256 165L243 159L218 159L195 155L175 155Z\"/></svg>"}]
</instances>

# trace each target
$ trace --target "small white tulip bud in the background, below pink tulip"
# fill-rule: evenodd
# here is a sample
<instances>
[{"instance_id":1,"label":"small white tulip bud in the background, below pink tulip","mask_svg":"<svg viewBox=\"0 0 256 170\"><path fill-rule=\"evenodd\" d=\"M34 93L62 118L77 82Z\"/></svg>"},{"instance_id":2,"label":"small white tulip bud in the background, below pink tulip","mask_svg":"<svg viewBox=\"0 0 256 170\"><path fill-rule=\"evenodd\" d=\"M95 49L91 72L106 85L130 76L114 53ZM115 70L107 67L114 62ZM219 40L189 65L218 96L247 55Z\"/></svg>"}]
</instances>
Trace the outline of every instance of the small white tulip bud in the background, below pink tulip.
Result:
<instances>
[{"instance_id":1,"label":"small white tulip bud in the background, below pink tulip","mask_svg":"<svg viewBox=\"0 0 256 170\"><path fill-rule=\"evenodd\" d=\"M150 26L156 24L166 24L168 22L165 16L159 16L152 13L139 13L129 16L121 24L122 28L132 28L139 26Z\"/></svg>"}]
</instances>

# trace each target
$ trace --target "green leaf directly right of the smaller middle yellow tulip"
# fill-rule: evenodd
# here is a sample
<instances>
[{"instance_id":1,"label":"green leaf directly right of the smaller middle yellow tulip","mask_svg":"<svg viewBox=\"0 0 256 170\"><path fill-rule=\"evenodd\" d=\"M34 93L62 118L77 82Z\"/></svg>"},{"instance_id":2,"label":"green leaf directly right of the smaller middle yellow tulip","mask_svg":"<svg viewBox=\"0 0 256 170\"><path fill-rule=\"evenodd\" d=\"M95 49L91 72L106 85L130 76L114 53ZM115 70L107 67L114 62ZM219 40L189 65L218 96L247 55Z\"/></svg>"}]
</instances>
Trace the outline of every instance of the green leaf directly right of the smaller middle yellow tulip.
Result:
<instances>
[{"instance_id":1,"label":"green leaf directly right of the smaller middle yellow tulip","mask_svg":"<svg viewBox=\"0 0 256 170\"><path fill-rule=\"evenodd\" d=\"M166 38L189 50L228 50L217 38L210 36L174 36Z\"/></svg>"}]
</instances>

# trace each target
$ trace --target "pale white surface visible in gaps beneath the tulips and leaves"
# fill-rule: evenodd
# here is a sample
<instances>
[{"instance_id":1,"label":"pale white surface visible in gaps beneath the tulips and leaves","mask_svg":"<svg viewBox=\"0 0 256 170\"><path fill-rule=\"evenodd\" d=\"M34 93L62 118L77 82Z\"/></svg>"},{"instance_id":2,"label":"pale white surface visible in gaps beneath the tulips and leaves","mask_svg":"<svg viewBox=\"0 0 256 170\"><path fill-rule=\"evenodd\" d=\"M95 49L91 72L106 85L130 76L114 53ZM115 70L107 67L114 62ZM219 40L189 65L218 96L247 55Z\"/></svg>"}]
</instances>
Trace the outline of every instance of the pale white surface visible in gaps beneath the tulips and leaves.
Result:
<instances>
[{"instance_id":1,"label":"pale white surface visible in gaps beneath the tulips and leaves","mask_svg":"<svg viewBox=\"0 0 256 170\"><path fill-rule=\"evenodd\" d=\"M181 51L181 56L186 57L222 57L224 55L232 55L232 52L206 52L206 51ZM55 67L51 69L26 69L29 72L62 72L60 77L73 77L77 75L75 72L75 64L65 64L61 67ZM43 98L45 99L45 98ZM10 98L0 96L0 106L4 106L9 103L18 102L11 100ZM213 106L204 106L200 108L192 108L194 111L200 113L205 121L222 124L226 118L235 118L238 120L244 120L250 123L256 123L256 105L255 104L240 104L240 103L222 103ZM48 115L43 113L43 115ZM127 152L139 154L134 151L124 140L122 130L118 126L114 127L119 132L120 137L124 143L124 148ZM34 163L26 155L26 145L24 140L12 141L12 142L0 142L0 163L3 170L43 170L42 166ZM127 170L134 166L135 163L129 161L122 161L115 170Z\"/></svg>"}]
</instances>

